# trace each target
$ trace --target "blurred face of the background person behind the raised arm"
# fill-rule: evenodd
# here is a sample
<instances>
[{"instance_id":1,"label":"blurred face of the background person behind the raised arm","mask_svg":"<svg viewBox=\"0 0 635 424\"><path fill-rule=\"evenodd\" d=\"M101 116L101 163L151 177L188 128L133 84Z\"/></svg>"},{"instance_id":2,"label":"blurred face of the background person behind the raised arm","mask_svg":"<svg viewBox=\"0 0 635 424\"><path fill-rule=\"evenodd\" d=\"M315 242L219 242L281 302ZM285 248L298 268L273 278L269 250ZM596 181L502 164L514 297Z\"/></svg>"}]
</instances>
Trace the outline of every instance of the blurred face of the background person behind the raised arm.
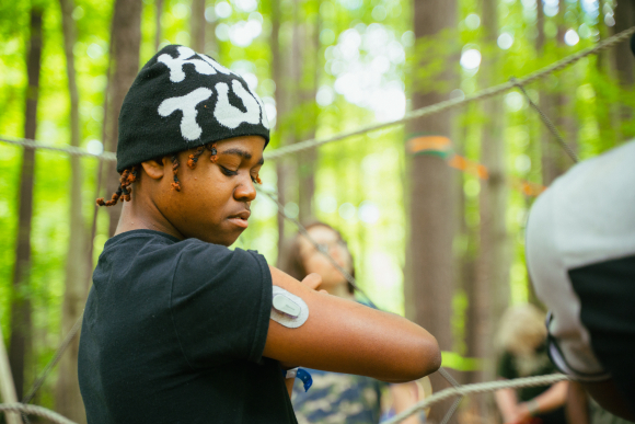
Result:
<instances>
[{"instance_id":1,"label":"blurred face of the background person behind the raised arm","mask_svg":"<svg viewBox=\"0 0 635 424\"><path fill-rule=\"evenodd\" d=\"M310 228L308 232L318 244L327 249L328 254L339 266L350 273L350 254L335 231L323 226L315 226ZM334 287L346 283L344 275L305 237L300 236L299 247L300 257L302 259L307 274L318 273L322 277L322 285L320 287Z\"/></svg>"}]
</instances>

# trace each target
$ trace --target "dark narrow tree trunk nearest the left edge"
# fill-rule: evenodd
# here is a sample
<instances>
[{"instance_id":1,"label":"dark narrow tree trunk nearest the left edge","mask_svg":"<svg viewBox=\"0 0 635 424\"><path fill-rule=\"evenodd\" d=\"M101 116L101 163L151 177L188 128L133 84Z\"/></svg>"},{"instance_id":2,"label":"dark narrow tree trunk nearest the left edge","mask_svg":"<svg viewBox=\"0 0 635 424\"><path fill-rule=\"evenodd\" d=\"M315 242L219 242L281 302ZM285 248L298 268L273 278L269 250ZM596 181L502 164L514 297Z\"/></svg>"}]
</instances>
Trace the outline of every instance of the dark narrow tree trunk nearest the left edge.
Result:
<instances>
[{"instance_id":1,"label":"dark narrow tree trunk nearest the left edge","mask_svg":"<svg viewBox=\"0 0 635 424\"><path fill-rule=\"evenodd\" d=\"M39 68L42 65L42 9L31 9L31 38L26 59L28 87L24 137L34 140L37 129L37 99L39 95ZM24 396L24 377L31 362L31 227L33 221L33 183L35 149L24 148L20 172L20 208L18 213L18 243L13 268L13 298L11 302L11 339L9 362L19 399Z\"/></svg>"}]
</instances>

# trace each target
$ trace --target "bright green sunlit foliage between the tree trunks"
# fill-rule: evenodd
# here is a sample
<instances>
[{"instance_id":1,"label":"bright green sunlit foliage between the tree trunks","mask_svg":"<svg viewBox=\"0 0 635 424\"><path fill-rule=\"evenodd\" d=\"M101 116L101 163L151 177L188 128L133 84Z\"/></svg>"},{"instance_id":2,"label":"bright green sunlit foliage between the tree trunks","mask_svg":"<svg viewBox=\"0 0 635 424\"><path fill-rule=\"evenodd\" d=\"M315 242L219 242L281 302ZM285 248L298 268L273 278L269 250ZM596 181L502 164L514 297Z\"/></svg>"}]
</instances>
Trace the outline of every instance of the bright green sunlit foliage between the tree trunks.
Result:
<instances>
[{"instance_id":1,"label":"bright green sunlit foliage between the tree trunks","mask_svg":"<svg viewBox=\"0 0 635 424\"><path fill-rule=\"evenodd\" d=\"M249 1L208 0L206 18L208 45L206 53L221 64L242 73L257 78L256 91L265 103L275 104L275 84L272 77L272 5L267 0L250 5ZM230 7L229 15L217 12ZM297 14L293 4L300 4ZM59 3L53 0L38 2L44 8L44 50L38 106L37 139L50 145L69 142L69 96L66 77L66 59L61 34ZM80 90L80 117L83 147L90 140L102 138L104 118L104 91L108 67L111 16L114 1L77 0L73 19L78 26L74 58ZM467 95L483 89L478 69L463 69L459 65L461 53L467 48L478 49L485 60L494 61L494 71L488 76L492 83L507 81L510 76L521 77L597 42L597 34L607 33L599 16L584 11L578 2L566 2L566 11L545 19L546 43L536 49L536 9L531 1L500 0L498 5L499 33L509 34L512 44L503 50L498 45L485 42L483 25L475 24L470 15L480 14L480 2L461 0L459 24L429 39L414 43L412 32L412 3L399 0L282 0L280 43L287 54L293 37L293 20L308 28L315 23L319 50L310 58L310 66L302 67L298 84L285 75L281 84L286 89L300 88L310 91L318 81L318 92L325 96L315 102L312 96L299 102L298 107L285 116L277 116L269 149L279 146L288 134L296 138L307 137L313 130L316 137L331 135L385 119L390 111L382 110L363 100L365 92L350 92L343 85L353 80L343 80L346 72L362 76L360 70L384 67L374 81L376 85L416 91L439 90L457 95ZM22 137L24 125L24 94L26 87L26 48L28 41L30 2L0 2L0 134ZM141 31L141 62L154 53L155 8L152 0L145 0ZM190 2L165 0L161 16L161 43L189 44ZM562 16L562 18L561 18ZM481 20L478 20L481 21ZM251 24L250 24L251 22ZM236 46L244 25L259 27L253 39ZM243 26L241 26L243 25ZM259 26L258 26L259 25ZM557 43L558 25L564 30L576 30L584 35L575 46ZM582 31L582 26L585 30ZM347 31L355 31L353 34ZM377 38L365 44L376 32ZM243 34L244 35L244 34ZM346 46L346 37L359 36L361 42L355 49ZM370 39L370 38L369 38ZM373 48L385 43L392 46L392 59L374 61L380 54ZM386 48L389 48L386 47ZM400 57L405 51L405 60ZM389 54L383 53L386 56ZM389 56L390 56L389 55ZM388 56L386 56L388 57ZM581 158L590 158L635 135L628 111L635 108L632 88L620 85L613 76L612 58L609 53L601 57L589 57L570 69L561 71L532 87L530 95L536 100L544 95L561 95L567 104L550 111L553 116L566 115L575 122L575 131L566 133L567 141L577 145ZM459 77L457 87L443 77L451 70ZM358 73L355 73L358 72ZM363 76L362 76L363 77ZM359 78L362 78L359 77ZM367 78L368 75L366 75ZM369 77L370 78L370 77ZM338 82L339 81L339 82ZM343 82L344 81L344 82ZM348 82L346 82L348 81ZM296 85L295 85L296 84ZM389 91L378 91L381 102L388 102ZM385 96L385 98L382 98ZM360 100L362 99L362 100ZM465 158L480 160L482 126L486 119L496 119L503 127L506 141L506 173L510 180L542 183L541 157L544 137L542 123L527 101L518 93L503 96L503 116L484 116L478 104L459 110L455 115L455 150ZM366 102L366 103L365 103ZM379 103L381 103L379 102ZM377 102L376 102L377 103ZM400 103L401 104L401 103ZM406 101L405 106L409 103ZM374 108L373 108L374 107ZM400 106L401 107L401 106ZM559 115L558 115L559 114ZM399 115L399 114L397 114ZM553 117L552 116L552 117ZM316 123L316 125L315 125ZM565 130L566 128L562 128ZM405 180L404 129L391 127L343 141L326 145L318 151L315 168L315 217L340 229L348 240L355 257L358 280L381 308L403 313L403 267L408 236ZM9 335L10 299L12 297L12 272L18 221L18 187L22 150L0 144L0 321L5 336ZM290 158L287 163L296 163ZM93 213L93 197L97 163L82 160L84 182L82 186L85 206L82 211L86 227ZM307 168L297 167L296 175L307 173ZM459 171L457 171L459 172ZM35 208L33 221L33 270L30 294L34 305L35 352L34 369L42 369L60 341L60 310L64 295L66 251L68 243L69 208L68 158L57 153L39 151L36 157ZM276 169L266 163L262 171L264 188L274 192ZM295 176L293 176L295 177ZM472 174L458 176L464 192L462 218L464 230L458 232L455 253L460 261L474 261L478 254L478 191L480 181ZM292 187L296 192L298 187ZM297 197L297 196L296 196ZM510 187L507 229L511 252L510 287L511 301L528 300L528 278L523 256L523 230L532 198L515 186ZM287 208L297 211L297 198L290 198ZM265 197L253 205L253 218L236 245L257 249L267 260L275 263L277 256L276 207ZM450 217L449 217L450 219ZM107 239L107 216L99 215L99 231L94 240L95 257ZM296 231L287 227L289 233ZM459 262L458 260L458 262ZM453 328L457 335L455 353L465 352L462 342L465 335L466 297L459 291L455 297ZM472 364L473 365L473 364ZM53 380L43 389L39 403L51 406Z\"/></svg>"}]
</instances>

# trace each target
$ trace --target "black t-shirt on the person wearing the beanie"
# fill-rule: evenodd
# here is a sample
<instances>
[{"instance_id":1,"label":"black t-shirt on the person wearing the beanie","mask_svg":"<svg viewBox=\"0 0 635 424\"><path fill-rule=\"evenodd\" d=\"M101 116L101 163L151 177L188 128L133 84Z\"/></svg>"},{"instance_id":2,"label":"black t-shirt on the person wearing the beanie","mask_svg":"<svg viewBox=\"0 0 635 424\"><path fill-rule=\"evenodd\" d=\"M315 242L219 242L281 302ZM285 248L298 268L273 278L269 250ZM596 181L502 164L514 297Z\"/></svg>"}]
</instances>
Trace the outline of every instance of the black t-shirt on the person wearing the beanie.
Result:
<instances>
[{"instance_id":1,"label":"black t-shirt on the person wearing the beanie","mask_svg":"<svg viewBox=\"0 0 635 424\"><path fill-rule=\"evenodd\" d=\"M297 423L263 358L272 276L251 251L151 230L109 239L79 352L90 424Z\"/></svg>"}]
</instances>

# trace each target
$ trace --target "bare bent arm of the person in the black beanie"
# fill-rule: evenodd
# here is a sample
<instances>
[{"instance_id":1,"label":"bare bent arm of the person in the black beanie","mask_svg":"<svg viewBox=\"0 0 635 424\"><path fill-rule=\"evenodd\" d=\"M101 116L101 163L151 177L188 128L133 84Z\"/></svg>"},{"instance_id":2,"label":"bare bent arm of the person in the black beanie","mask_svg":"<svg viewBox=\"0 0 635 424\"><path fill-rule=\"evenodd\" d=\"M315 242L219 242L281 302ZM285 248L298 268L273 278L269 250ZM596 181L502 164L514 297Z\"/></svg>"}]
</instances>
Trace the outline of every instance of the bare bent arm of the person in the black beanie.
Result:
<instances>
[{"instance_id":1,"label":"bare bent arm of the person in the black beanie","mask_svg":"<svg viewBox=\"0 0 635 424\"><path fill-rule=\"evenodd\" d=\"M416 380L440 367L437 341L419 325L314 291L275 267L270 271L275 286L307 302L309 319L297 329L269 321L264 356L389 382Z\"/></svg>"}]
</instances>

